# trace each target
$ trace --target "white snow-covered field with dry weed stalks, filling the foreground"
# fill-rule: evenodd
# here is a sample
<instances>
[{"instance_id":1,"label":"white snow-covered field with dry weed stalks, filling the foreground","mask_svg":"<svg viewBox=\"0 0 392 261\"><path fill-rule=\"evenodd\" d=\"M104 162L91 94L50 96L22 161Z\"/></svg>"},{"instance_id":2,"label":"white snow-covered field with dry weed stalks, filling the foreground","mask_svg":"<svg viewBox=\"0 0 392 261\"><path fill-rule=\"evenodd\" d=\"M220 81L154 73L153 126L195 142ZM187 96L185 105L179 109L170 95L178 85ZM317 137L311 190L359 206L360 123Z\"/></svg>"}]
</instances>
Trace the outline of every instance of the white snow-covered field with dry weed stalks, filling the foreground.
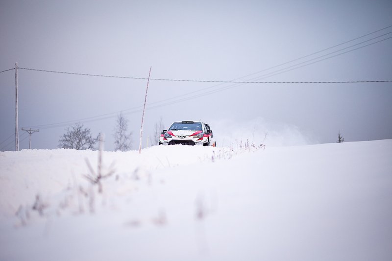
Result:
<instances>
[{"instance_id":1,"label":"white snow-covered field with dry weed stalks, filling the foreground","mask_svg":"<svg viewBox=\"0 0 392 261\"><path fill-rule=\"evenodd\" d=\"M1 261L392 260L392 140L86 159L0 152Z\"/></svg>"}]
</instances>

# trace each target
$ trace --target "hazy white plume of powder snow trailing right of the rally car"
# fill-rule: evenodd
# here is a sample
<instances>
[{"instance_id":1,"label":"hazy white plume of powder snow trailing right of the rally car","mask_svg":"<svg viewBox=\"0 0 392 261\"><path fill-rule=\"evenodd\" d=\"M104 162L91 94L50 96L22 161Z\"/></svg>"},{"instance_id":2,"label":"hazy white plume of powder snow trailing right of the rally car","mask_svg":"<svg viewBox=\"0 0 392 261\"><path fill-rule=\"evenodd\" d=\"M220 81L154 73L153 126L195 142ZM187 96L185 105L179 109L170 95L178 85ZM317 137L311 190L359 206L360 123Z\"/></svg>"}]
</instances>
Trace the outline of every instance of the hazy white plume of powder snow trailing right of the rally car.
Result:
<instances>
[{"instance_id":1,"label":"hazy white plume of powder snow trailing right of the rally car","mask_svg":"<svg viewBox=\"0 0 392 261\"><path fill-rule=\"evenodd\" d=\"M249 142L256 146L294 146L310 144L298 127L283 123L267 122L256 118L244 122L233 120L216 120L209 122L218 146L240 146Z\"/></svg>"}]
</instances>

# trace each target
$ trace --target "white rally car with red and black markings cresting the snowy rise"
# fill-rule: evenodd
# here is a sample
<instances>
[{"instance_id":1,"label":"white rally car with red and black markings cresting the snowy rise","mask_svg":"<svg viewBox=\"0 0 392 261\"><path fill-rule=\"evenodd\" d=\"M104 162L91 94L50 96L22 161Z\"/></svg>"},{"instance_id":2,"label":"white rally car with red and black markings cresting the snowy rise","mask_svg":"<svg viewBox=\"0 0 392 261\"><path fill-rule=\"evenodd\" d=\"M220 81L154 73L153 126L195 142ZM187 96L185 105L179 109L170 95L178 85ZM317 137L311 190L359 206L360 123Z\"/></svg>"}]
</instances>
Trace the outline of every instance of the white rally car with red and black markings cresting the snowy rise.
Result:
<instances>
[{"instance_id":1,"label":"white rally car with red and black markings cresting the snowy rise","mask_svg":"<svg viewBox=\"0 0 392 261\"><path fill-rule=\"evenodd\" d=\"M176 121L169 130L163 130L159 137L159 144L183 144L203 146L215 145L210 126L201 121Z\"/></svg>"}]
</instances>

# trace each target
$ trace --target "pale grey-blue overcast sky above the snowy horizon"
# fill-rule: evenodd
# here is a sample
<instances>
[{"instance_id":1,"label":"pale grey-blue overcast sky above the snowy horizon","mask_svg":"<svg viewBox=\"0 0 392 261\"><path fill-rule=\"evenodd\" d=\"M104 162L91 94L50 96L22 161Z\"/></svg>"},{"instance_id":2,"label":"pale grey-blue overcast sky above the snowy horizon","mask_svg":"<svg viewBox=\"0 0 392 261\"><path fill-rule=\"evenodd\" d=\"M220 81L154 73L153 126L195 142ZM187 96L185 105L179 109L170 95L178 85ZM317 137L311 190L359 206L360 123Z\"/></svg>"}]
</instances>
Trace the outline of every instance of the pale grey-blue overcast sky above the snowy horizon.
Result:
<instances>
[{"instance_id":1,"label":"pale grey-blue overcast sky above the snowy horizon","mask_svg":"<svg viewBox=\"0 0 392 261\"><path fill-rule=\"evenodd\" d=\"M154 79L392 80L391 14L391 0L1 0L0 71L18 62L142 78L152 66ZM40 129L33 148L56 148L67 126L81 122L95 136L104 133L105 148L113 150L121 111L138 148L146 80L25 69L18 75L19 127ZM392 82L151 80L144 146L160 117L166 128L201 119L218 145L336 142L339 131L346 142L392 139ZM14 133L11 70L0 73L1 150L15 149ZM20 137L20 149L28 148L27 133Z\"/></svg>"}]
</instances>

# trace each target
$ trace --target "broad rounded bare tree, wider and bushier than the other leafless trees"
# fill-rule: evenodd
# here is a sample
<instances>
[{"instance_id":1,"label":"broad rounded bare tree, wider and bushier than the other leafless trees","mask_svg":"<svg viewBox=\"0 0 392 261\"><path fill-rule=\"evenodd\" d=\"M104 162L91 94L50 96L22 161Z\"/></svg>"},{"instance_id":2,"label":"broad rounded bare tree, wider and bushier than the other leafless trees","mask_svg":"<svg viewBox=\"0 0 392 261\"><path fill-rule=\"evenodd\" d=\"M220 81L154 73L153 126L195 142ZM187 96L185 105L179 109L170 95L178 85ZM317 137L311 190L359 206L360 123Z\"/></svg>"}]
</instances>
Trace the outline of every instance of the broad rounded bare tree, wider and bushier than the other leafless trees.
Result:
<instances>
[{"instance_id":1,"label":"broad rounded bare tree, wider and bushier than the other leafless trees","mask_svg":"<svg viewBox=\"0 0 392 261\"><path fill-rule=\"evenodd\" d=\"M77 150L94 149L94 145L98 142L98 137L93 138L89 128L85 128L83 124L76 123L71 128L67 128L67 133L60 137L58 147Z\"/></svg>"}]
</instances>

